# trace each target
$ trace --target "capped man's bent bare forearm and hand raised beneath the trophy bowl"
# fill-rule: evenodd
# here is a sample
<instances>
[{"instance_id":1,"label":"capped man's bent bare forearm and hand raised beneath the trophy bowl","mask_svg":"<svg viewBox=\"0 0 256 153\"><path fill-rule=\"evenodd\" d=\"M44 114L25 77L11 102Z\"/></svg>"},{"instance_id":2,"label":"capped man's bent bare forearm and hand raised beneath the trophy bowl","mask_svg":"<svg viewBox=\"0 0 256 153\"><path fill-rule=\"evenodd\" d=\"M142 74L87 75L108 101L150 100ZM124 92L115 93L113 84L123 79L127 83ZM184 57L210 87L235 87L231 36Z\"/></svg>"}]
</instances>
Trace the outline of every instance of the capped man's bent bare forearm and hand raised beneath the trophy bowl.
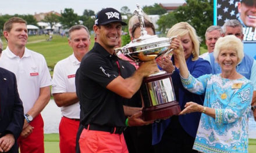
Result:
<instances>
[{"instance_id":1,"label":"capped man's bent bare forearm and hand raised beneath the trophy bowl","mask_svg":"<svg viewBox=\"0 0 256 153\"><path fill-rule=\"evenodd\" d=\"M158 71L155 60L144 62L131 77L124 79L118 76L106 88L122 97L130 99L140 89L143 78L155 71Z\"/></svg>"}]
</instances>

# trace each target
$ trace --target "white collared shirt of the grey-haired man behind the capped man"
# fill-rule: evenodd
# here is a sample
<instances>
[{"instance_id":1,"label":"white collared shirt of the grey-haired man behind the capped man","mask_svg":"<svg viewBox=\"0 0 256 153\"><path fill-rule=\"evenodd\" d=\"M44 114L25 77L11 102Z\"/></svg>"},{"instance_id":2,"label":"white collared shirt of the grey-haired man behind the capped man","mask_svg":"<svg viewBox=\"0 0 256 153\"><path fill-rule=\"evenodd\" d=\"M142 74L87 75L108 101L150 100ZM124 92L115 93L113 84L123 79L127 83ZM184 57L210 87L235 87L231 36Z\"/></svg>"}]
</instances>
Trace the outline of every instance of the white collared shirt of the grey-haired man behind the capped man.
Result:
<instances>
[{"instance_id":1,"label":"white collared shirt of the grey-haired man behind the capped man","mask_svg":"<svg viewBox=\"0 0 256 153\"><path fill-rule=\"evenodd\" d=\"M76 59L74 53L66 59L58 61L54 67L54 75L52 77L52 94L76 92L76 85L74 78L76 71L80 66L80 61ZM67 118L80 118L80 104L79 102L69 106L62 106L61 112Z\"/></svg>"}]
</instances>

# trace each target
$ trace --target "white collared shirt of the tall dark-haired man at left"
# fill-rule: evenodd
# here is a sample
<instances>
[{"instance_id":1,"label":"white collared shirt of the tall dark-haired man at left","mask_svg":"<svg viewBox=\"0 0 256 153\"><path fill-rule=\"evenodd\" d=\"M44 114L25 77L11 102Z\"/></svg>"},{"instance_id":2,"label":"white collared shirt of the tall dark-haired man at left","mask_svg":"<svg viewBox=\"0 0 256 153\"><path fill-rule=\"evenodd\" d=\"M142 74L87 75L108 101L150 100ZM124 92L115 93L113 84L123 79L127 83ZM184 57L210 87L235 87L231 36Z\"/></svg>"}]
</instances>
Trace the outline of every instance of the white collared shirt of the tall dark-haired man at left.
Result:
<instances>
[{"instance_id":1,"label":"white collared shirt of the tall dark-haired man at left","mask_svg":"<svg viewBox=\"0 0 256 153\"><path fill-rule=\"evenodd\" d=\"M22 58L7 47L0 58L0 67L16 75L17 88L23 101L24 114L29 111L40 94L40 88L52 84L47 63L42 54L25 48Z\"/></svg>"}]
</instances>

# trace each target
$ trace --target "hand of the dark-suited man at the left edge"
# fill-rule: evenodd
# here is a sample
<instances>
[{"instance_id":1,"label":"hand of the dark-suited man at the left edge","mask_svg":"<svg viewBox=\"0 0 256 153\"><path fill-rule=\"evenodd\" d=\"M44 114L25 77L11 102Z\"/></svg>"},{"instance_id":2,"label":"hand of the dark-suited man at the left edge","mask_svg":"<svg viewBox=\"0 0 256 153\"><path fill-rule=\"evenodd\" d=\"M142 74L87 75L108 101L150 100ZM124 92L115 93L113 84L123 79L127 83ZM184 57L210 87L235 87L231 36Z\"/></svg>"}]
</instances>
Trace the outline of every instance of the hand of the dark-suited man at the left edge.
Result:
<instances>
[{"instance_id":1,"label":"hand of the dark-suited man at the left edge","mask_svg":"<svg viewBox=\"0 0 256 153\"><path fill-rule=\"evenodd\" d=\"M13 134L6 134L0 138L0 152L8 152L15 143Z\"/></svg>"}]
</instances>

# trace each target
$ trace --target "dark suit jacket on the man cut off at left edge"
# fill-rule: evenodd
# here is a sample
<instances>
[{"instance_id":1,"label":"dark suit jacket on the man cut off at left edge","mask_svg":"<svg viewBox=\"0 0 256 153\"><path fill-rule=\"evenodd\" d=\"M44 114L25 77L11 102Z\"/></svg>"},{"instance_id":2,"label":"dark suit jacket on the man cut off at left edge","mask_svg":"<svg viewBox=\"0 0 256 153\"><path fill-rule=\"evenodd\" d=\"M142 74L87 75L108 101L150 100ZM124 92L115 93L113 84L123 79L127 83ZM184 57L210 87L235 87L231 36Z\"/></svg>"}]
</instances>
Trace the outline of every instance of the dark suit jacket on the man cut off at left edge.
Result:
<instances>
[{"instance_id":1,"label":"dark suit jacket on the man cut off at left edge","mask_svg":"<svg viewBox=\"0 0 256 153\"><path fill-rule=\"evenodd\" d=\"M23 124L23 104L17 91L15 74L0 68L0 137L8 133L15 137L15 144L9 152L18 152L16 141Z\"/></svg>"}]
</instances>

